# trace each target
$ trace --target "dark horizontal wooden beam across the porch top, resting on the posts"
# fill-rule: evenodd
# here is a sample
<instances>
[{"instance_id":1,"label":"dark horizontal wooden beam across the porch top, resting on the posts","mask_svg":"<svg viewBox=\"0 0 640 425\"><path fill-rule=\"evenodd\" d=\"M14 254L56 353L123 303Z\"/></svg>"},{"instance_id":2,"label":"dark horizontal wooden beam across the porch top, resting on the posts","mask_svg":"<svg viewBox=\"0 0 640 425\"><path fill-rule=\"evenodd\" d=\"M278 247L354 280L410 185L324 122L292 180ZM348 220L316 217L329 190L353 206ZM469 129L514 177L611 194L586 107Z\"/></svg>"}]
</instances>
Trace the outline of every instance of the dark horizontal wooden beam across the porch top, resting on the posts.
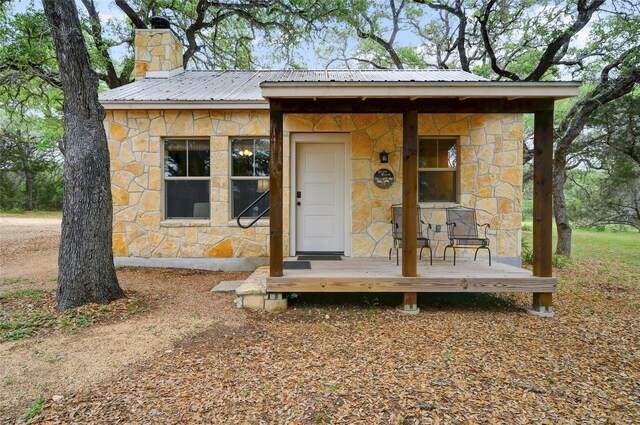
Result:
<instances>
[{"instance_id":1,"label":"dark horizontal wooden beam across the porch top, resting on the posts","mask_svg":"<svg viewBox=\"0 0 640 425\"><path fill-rule=\"evenodd\" d=\"M287 113L396 113L416 110L420 114L447 113L533 113L553 110L553 98L505 99L505 98L336 98L316 99L271 99L272 108Z\"/></svg>"}]
</instances>

